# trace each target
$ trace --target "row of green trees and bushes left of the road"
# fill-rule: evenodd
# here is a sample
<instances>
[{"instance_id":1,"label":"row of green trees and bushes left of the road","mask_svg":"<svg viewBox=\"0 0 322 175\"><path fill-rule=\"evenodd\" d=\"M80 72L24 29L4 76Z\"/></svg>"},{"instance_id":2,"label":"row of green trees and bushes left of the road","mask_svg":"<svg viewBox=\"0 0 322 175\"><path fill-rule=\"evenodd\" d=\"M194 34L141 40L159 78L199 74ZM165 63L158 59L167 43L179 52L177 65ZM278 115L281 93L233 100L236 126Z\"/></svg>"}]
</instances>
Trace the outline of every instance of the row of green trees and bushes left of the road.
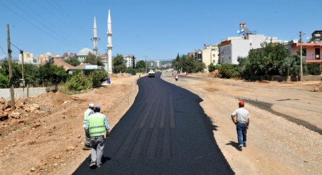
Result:
<instances>
[{"instance_id":1,"label":"row of green trees and bushes left of the road","mask_svg":"<svg viewBox=\"0 0 322 175\"><path fill-rule=\"evenodd\" d=\"M68 59L67 59L68 62ZM9 68L8 61L0 62L0 87L8 88ZM22 65L17 62L12 63L13 87L20 87L22 79ZM94 70L87 75L82 70L73 70L72 74L67 73L62 66L56 66L50 62L37 66L34 64L24 64L25 86L46 87L47 85L64 84L69 90L86 90L88 88L99 87L102 81L108 78L109 74L104 70Z\"/></svg>"}]
</instances>

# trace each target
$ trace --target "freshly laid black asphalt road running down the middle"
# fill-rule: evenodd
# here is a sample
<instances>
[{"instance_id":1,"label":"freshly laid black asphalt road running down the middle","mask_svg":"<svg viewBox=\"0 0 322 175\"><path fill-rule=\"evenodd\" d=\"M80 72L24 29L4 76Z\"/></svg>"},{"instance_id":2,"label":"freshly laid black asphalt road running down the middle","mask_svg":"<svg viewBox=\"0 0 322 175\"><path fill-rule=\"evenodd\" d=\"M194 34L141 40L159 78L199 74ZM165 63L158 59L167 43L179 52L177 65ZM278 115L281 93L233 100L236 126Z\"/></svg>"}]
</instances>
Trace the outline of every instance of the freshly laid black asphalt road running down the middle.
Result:
<instances>
[{"instance_id":1,"label":"freshly laid black asphalt road running down the middle","mask_svg":"<svg viewBox=\"0 0 322 175\"><path fill-rule=\"evenodd\" d=\"M90 169L89 157L73 174L234 174L202 99L160 75L138 80L134 104L105 139L102 167Z\"/></svg>"}]
</instances>

